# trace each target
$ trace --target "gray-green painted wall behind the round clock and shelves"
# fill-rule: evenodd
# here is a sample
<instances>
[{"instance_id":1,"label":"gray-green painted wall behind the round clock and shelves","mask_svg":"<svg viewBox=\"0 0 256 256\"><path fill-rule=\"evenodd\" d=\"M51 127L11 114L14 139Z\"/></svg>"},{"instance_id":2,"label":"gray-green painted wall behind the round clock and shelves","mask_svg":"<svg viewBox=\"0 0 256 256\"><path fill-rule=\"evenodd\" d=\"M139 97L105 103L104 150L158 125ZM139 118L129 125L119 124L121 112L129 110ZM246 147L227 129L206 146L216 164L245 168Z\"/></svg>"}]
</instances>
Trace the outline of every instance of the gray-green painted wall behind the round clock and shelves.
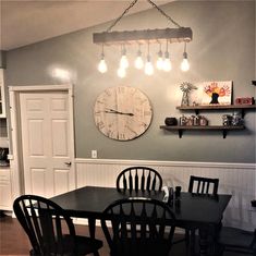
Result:
<instances>
[{"instance_id":1,"label":"gray-green painted wall behind the round clock and shelves","mask_svg":"<svg viewBox=\"0 0 256 256\"><path fill-rule=\"evenodd\" d=\"M120 80L115 75L119 49L106 48L109 72L99 74L96 66L100 47L94 45L93 33L105 31L109 24L56 37L8 52L7 84L61 84L52 76L53 68L70 72L74 84L76 157L89 158L97 149L99 158L145 159L170 161L255 162L255 111L245 115L245 131L230 132L225 139L220 132L163 132L159 125L166 117L181 117L175 106L181 103L180 84L184 81L233 81L233 97L254 96L255 86L255 1L179 1L163 10L183 26L191 26L194 39L187 51L191 71L179 69L183 45L170 47L173 70L156 72L147 77L131 68ZM169 22L156 10L127 16L117 29L164 28ZM172 25L171 25L172 26ZM146 49L143 49L144 52ZM158 46L151 46L156 57ZM136 47L127 47L135 56ZM107 138L96 127L93 115L95 99L103 89L127 85L142 89L154 108L150 127L141 137L130 142ZM221 115L230 111L204 112L211 124L221 124ZM188 112L185 114L193 114Z\"/></svg>"}]
</instances>

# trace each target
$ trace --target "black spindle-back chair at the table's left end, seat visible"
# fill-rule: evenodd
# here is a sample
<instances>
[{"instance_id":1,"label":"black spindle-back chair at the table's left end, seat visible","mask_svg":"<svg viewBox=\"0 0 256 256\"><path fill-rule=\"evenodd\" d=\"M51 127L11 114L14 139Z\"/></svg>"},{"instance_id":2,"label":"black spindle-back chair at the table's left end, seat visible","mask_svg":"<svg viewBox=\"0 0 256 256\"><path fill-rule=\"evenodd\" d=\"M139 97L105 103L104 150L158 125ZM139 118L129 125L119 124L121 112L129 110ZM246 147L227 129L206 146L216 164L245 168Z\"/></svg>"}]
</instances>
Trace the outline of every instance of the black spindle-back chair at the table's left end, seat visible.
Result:
<instances>
[{"instance_id":1,"label":"black spindle-back chair at the table's left end, seat visible","mask_svg":"<svg viewBox=\"0 0 256 256\"><path fill-rule=\"evenodd\" d=\"M13 210L31 241L31 255L99 255L102 242L76 235L66 211L53 202L36 195L23 195L14 200Z\"/></svg>"}]
</instances>

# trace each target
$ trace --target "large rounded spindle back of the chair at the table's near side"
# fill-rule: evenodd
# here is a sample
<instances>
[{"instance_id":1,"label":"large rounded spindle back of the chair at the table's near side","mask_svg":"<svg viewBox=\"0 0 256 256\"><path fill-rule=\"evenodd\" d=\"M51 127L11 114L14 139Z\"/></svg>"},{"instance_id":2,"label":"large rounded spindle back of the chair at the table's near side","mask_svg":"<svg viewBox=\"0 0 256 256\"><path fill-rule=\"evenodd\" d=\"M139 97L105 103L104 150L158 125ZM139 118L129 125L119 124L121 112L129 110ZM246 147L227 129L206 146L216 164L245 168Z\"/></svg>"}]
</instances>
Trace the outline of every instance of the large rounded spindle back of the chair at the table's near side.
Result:
<instances>
[{"instance_id":1,"label":"large rounded spindle back of the chair at the table's near side","mask_svg":"<svg viewBox=\"0 0 256 256\"><path fill-rule=\"evenodd\" d=\"M110 204L101 227L111 256L168 256L175 229L169 206L148 198L126 198Z\"/></svg>"}]
</instances>

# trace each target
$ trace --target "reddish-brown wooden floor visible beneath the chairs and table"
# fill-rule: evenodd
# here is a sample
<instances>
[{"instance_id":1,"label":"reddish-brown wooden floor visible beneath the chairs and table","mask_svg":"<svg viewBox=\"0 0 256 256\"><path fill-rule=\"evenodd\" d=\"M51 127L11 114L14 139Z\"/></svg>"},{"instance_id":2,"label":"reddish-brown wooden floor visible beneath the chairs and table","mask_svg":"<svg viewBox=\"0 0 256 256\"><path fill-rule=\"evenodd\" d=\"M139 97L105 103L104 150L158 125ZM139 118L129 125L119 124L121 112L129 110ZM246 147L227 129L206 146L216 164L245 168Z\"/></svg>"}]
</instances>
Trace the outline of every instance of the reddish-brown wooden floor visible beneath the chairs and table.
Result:
<instances>
[{"instance_id":1,"label":"reddish-brown wooden floor visible beneath the chairs and table","mask_svg":"<svg viewBox=\"0 0 256 256\"><path fill-rule=\"evenodd\" d=\"M77 234L88 235L87 225L76 225ZM100 256L109 256L109 248L100 228L96 230L96 237L103 241L103 247L99 251ZM29 255L31 245L22 227L16 219L11 217L0 218L0 255L25 256ZM157 255L156 255L157 256ZM170 256L186 256L184 244L173 246ZM223 256L244 256L242 254L224 254Z\"/></svg>"}]
</instances>

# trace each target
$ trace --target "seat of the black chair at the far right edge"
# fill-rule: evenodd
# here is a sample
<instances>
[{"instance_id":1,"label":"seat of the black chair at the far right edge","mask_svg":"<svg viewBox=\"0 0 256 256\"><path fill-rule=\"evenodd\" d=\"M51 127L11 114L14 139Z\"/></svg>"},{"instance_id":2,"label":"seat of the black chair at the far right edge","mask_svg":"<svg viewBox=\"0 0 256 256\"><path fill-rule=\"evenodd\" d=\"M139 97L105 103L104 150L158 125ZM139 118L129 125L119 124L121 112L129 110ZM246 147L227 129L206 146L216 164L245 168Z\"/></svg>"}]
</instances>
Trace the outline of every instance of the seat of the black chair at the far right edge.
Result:
<instances>
[{"instance_id":1,"label":"seat of the black chair at the far right edge","mask_svg":"<svg viewBox=\"0 0 256 256\"><path fill-rule=\"evenodd\" d=\"M231 227L222 227L218 242L225 246L249 248L254 240L254 232Z\"/></svg>"}]
</instances>

